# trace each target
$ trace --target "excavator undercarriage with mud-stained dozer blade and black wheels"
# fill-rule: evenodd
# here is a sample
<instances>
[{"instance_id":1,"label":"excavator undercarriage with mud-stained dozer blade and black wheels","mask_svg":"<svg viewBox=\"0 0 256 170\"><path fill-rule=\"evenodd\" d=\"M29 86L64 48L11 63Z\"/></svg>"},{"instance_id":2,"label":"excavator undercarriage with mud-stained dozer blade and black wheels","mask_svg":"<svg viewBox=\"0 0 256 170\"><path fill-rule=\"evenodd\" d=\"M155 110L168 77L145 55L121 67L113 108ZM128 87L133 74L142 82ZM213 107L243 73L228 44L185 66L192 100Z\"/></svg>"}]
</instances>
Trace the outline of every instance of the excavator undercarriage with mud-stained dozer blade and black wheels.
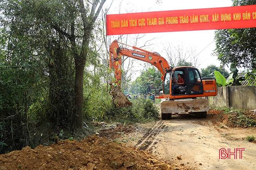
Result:
<instances>
[{"instance_id":1,"label":"excavator undercarriage with mud-stained dozer blade and black wheels","mask_svg":"<svg viewBox=\"0 0 256 170\"><path fill-rule=\"evenodd\" d=\"M209 111L207 99L175 99L161 101L162 119L171 119L172 113L191 113L197 118L206 118Z\"/></svg>"}]
</instances>

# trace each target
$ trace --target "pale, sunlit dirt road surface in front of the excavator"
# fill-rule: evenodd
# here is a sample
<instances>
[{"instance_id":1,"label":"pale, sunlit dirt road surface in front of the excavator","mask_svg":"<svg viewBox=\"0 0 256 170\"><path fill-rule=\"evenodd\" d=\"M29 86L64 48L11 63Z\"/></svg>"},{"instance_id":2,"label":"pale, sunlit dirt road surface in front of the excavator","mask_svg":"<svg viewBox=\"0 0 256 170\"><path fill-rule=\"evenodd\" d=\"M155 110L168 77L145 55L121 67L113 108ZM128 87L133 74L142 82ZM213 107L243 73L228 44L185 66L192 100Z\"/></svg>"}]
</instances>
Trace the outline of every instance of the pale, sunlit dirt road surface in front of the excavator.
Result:
<instances>
[{"instance_id":1,"label":"pale, sunlit dirt road surface in front of the excavator","mask_svg":"<svg viewBox=\"0 0 256 170\"><path fill-rule=\"evenodd\" d=\"M246 141L246 136L256 136L255 129L229 128L222 123L216 117L197 119L189 114L173 115L171 120L152 124L134 145L152 152L160 160L199 170L255 169L256 144ZM236 160L234 155L230 160L219 160L220 148L231 148L231 152L245 148L246 151L240 151L242 159L237 154Z\"/></svg>"}]
</instances>

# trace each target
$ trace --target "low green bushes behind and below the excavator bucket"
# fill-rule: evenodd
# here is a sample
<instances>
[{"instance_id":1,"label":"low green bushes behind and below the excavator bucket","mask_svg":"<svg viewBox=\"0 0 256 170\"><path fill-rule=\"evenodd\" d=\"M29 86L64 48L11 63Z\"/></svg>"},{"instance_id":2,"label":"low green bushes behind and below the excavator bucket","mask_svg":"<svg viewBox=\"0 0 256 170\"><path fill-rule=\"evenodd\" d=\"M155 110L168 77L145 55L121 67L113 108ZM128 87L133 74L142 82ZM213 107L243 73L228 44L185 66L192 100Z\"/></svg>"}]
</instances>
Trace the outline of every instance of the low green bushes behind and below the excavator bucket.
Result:
<instances>
[{"instance_id":1,"label":"low green bushes behind and below the excavator bucket","mask_svg":"<svg viewBox=\"0 0 256 170\"><path fill-rule=\"evenodd\" d=\"M141 97L132 99L131 102L132 106L130 107L116 107L112 102L112 96L103 90L94 90L93 95L85 93L85 119L95 122L109 120L120 123L127 121L146 122L159 119L159 109L152 100Z\"/></svg>"}]
</instances>

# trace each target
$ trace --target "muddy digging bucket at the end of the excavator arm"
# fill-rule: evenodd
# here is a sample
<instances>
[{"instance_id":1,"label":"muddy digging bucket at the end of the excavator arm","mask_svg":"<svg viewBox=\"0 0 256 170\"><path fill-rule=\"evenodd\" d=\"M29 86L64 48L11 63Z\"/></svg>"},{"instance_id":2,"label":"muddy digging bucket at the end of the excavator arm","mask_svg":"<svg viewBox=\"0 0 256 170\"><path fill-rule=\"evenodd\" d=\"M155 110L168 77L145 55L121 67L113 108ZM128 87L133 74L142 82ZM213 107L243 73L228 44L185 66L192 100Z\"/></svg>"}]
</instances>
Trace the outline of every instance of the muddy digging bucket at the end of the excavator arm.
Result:
<instances>
[{"instance_id":1,"label":"muddy digging bucket at the end of the excavator arm","mask_svg":"<svg viewBox=\"0 0 256 170\"><path fill-rule=\"evenodd\" d=\"M112 88L110 95L112 95L112 99L114 104L117 107L129 107L132 106L132 102L128 100L126 95L122 92L121 88L117 86L116 88Z\"/></svg>"}]
</instances>

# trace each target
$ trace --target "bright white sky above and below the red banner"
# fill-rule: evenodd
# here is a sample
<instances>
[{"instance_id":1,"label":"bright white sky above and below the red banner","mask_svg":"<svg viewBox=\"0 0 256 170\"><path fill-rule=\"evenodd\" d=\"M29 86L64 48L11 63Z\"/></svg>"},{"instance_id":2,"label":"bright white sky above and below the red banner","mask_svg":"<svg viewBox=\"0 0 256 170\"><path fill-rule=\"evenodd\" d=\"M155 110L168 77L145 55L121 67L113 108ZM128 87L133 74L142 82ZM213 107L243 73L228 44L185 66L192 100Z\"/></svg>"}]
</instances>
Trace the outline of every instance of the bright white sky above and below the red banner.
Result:
<instances>
[{"instance_id":1,"label":"bright white sky above and below the red banner","mask_svg":"<svg viewBox=\"0 0 256 170\"><path fill-rule=\"evenodd\" d=\"M166 11L166 10L187 10L187 9L200 9L200 8L213 8L213 7L230 7L232 6L231 0L160 0L162 3L157 4L157 0L114 0L108 14L120 13L133 13L133 12L153 12L153 11ZM120 5L121 4L121 5ZM220 66L220 61L216 56L213 56L215 49L214 41L215 30L202 30L202 31L186 31L186 32L166 32L166 33L147 33L143 40L139 40L136 46L143 46L144 42L155 38L155 46L151 46L155 52L160 53L164 57L162 46L164 42L171 42L171 44L184 44L184 46L196 49L198 59L200 62L199 70L206 68L213 64ZM129 34L129 37L135 37L134 34ZM117 36L112 36L115 39ZM129 44L133 45L133 44ZM150 50L149 50L150 51ZM226 68L226 67L225 67ZM229 68L226 68L229 70Z\"/></svg>"}]
</instances>

